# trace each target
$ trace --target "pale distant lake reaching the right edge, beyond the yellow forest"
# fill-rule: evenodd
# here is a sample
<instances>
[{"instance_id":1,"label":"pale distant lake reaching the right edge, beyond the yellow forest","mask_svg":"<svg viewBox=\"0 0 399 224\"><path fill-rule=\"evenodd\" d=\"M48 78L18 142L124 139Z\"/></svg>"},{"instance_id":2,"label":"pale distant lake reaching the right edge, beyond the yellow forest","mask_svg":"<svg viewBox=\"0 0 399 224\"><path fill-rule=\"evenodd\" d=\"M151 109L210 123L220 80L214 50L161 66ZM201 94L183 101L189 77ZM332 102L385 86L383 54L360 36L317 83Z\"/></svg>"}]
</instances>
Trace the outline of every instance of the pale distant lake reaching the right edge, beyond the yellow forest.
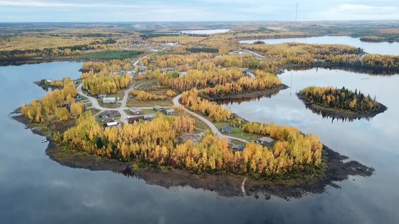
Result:
<instances>
[{"instance_id":1,"label":"pale distant lake reaching the right edge, beyond the yellow forest","mask_svg":"<svg viewBox=\"0 0 399 224\"><path fill-rule=\"evenodd\" d=\"M347 44L361 47L367 53L382 55L399 55L399 42L363 42L359 38L348 36L322 36L322 37L300 37L300 38L272 38L272 39L251 39L241 40L239 43L254 43L261 40L268 44L286 42L314 43L314 44Z\"/></svg>"}]
</instances>

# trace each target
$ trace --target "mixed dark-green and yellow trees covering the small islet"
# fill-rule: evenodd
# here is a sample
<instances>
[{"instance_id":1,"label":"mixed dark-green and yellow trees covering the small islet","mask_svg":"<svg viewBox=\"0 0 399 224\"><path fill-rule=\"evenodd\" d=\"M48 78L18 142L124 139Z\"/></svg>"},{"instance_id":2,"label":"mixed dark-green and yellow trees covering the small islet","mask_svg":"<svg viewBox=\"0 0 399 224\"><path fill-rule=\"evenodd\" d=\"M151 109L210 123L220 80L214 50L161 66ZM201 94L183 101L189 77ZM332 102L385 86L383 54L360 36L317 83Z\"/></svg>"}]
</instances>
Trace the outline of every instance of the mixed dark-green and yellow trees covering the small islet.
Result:
<instances>
[{"instance_id":1,"label":"mixed dark-green and yellow trees covering the small islet","mask_svg":"<svg viewBox=\"0 0 399 224\"><path fill-rule=\"evenodd\" d=\"M350 110L353 112L371 112L378 110L380 104L370 95L365 96L358 90L354 92L342 87L341 89L309 86L302 89L299 96L307 102L327 108Z\"/></svg>"}]
</instances>

